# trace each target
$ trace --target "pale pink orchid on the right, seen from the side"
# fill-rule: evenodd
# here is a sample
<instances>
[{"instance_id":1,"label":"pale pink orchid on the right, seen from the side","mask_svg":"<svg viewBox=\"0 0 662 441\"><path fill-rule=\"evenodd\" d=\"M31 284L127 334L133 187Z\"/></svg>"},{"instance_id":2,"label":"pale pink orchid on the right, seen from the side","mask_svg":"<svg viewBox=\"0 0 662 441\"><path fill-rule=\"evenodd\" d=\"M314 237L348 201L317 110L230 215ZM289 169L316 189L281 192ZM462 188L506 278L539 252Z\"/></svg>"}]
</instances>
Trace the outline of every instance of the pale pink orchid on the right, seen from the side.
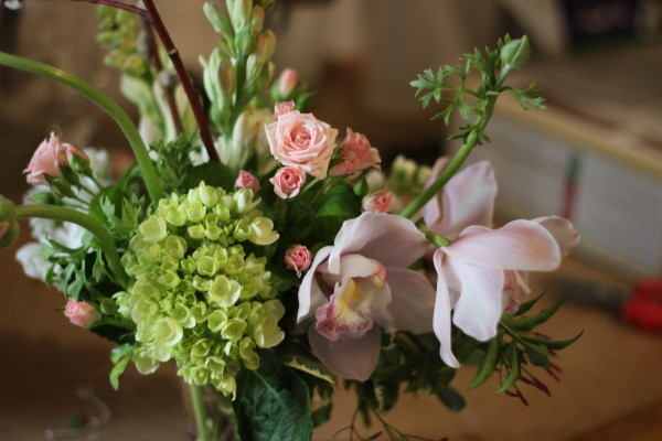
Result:
<instances>
[{"instance_id":1,"label":"pale pink orchid on the right, seen from the side","mask_svg":"<svg viewBox=\"0 0 662 441\"><path fill-rule=\"evenodd\" d=\"M442 166L438 161L433 179ZM495 195L494 172L488 162L480 162L455 175L421 211L428 228L451 240L433 261L434 329L441 358L452 367L459 363L451 351L451 320L477 340L493 337L501 314L515 311L531 292L527 271L556 269L579 241L573 225L556 216L491 229Z\"/></svg>"}]
</instances>

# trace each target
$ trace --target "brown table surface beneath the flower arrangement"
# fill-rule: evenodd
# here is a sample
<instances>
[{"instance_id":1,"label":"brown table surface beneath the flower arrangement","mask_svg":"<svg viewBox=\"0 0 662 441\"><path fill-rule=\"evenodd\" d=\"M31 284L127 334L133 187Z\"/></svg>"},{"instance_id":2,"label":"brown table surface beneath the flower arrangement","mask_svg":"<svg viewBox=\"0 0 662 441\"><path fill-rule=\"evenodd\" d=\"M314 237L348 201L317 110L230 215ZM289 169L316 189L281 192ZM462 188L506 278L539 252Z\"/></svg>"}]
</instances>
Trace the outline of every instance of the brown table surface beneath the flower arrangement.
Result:
<instances>
[{"instance_id":1,"label":"brown table surface beneath the flower arrangement","mask_svg":"<svg viewBox=\"0 0 662 441\"><path fill-rule=\"evenodd\" d=\"M76 397L81 387L92 390L113 413L93 437L77 439L185 440L185 413L173 368L164 366L149 377L129 369L119 391L114 391L107 379L113 345L70 325L60 312L62 294L23 276L13 250L0 255L0 440L43 440L45 430L63 427L73 413L95 415L93 406ZM560 277L620 283L570 262L554 276L535 279L536 288ZM495 383L468 390L474 369L461 368L453 386L467 399L463 411L450 412L431 397L403 396L387 421L407 433L450 441L662 440L662 338L568 294L569 301L543 330L556 338L579 331L584 336L562 352L560 383L546 379L551 398L525 390L531 404L525 407L494 394ZM543 302L557 295L549 292ZM314 439L333 439L350 422L354 408L353 397L340 391L331 421L316 430ZM373 427L364 434L378 430ZM342 432L334 439L349 435Z\"/></svg>"}]
</instances>

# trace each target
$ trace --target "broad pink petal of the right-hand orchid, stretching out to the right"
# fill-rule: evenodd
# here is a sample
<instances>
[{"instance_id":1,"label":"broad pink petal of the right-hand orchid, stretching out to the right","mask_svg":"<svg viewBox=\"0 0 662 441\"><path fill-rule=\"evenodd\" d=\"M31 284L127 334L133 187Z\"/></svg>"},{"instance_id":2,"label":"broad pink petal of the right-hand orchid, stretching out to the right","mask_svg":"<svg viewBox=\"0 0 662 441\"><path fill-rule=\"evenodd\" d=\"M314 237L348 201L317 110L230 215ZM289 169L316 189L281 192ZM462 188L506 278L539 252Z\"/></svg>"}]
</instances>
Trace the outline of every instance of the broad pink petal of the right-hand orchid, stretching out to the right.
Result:
<instances>
[{"instance_id":1,"label":"broad pink petal of the right-hand orchid, stretching out to the right","mask_svg":"<svg viewBox=\"0 0 662 441\"><path fill-rule=\"evenodd\" d=\"M560 263L556 240L532 220L513 220L494 230L468 227L441 250L453 260L489 268L547 271Z\"/></svg>"}]
</instances>

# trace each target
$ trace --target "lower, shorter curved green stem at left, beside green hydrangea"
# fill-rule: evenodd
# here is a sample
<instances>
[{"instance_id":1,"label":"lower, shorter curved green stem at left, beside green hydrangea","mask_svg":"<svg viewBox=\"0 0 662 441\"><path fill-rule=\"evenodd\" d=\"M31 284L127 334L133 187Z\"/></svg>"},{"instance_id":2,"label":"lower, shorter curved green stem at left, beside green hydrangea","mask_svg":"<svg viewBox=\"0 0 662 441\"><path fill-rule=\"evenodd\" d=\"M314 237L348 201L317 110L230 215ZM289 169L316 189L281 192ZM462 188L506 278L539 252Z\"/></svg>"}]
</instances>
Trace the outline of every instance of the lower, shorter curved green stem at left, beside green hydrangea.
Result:
<instances>
[{"instance_id":1,"label":"lower, shorter curved green stem at left, beside green hydrangea","mask_svg":"<svg viewBox=\"0 0 662 441\"><path fill-rule=\"evenodd\" d=\"M117 252L115 240L110 237L108 229L88 214L78 212L73 208L66 208L56 205L21 205L17 207L14 218L41 217L44 219L71 222L79 225L92 233L98 240L102 251L108 260L108 267L113 271L117 282L122 288L128 288L129 277L127 276L124 266Z\"/></svg>"}]
</instances>

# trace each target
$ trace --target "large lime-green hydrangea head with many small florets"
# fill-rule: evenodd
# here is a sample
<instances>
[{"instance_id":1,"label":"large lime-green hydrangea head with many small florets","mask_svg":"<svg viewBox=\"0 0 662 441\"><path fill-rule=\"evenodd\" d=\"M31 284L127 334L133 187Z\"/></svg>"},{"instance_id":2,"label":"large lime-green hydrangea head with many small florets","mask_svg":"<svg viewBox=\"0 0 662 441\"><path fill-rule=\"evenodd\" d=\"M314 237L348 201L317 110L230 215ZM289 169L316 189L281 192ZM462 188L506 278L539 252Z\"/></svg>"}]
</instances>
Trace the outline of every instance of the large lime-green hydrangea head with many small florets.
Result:
<instances>
[{"instance_id":1,"label":"large lime-green hydrangea head with many small florets","mask_svg":"<svg viewBox=\"0 0 662 441\"><path fill-rule=\"evenodd\" d=\"M266 258L246 252L273 244L274 224L248 189L226 193L204 182L159 201L122 257L135 283L115 295L136 325L134 362L149 374L174 359L188 383L235 392L235 375L259 366L257 347L285 337Z\"/></svg>"}]
</instances>

